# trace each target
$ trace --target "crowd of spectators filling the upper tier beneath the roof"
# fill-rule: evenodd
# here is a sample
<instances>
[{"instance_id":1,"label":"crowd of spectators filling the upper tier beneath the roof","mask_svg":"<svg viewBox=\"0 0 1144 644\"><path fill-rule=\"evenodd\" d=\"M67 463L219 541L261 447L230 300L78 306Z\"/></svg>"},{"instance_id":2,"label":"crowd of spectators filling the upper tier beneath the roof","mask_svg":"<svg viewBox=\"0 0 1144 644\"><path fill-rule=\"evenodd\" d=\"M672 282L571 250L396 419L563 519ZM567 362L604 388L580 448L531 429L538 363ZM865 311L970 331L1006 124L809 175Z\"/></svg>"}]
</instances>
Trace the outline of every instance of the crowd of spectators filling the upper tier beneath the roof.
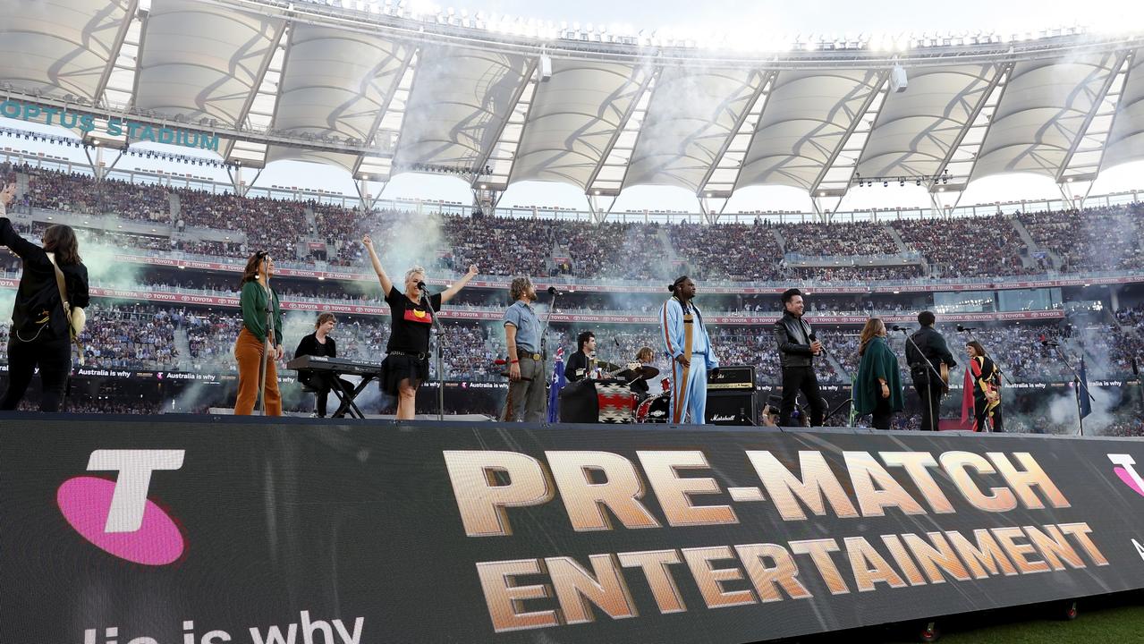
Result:
<instances>
[{"instance_id":1,"label":"crowd of spectators filling the upper tier beneath the roof","mask_svg":"<svg viewBox=\"0 0 1144 644\"><path fill-rule=\"evenodd\" d=\"M27 193L21 204L80 213L108 212L152 222L172 220L170 189L154 184L96 182L78 174L24 167ZM268 249L288 261L326 261L365 268L363 233L416 251L423 265L463 272L470 263L485 275L534 277L571 275L590 279L662 279L689 273L705 280L884 280L920 277L979 277L1042 273L1058 255L1065 272L1144 268L1138 222L1144 206L1089 208L979 217L887 222L797 223L627 223L440 215L404 210L371 212L316 201L241 198L232 193L175 189L176 228L205 226L245 234L245 244L178 241L186 252L244 256ZM312 218L307 210L312 212ZM1018 223L1019 222L1019 223ZM1017 231L1024 225L1035 247ZM897 254L896 231L922 264L892 267L786 265L786 252L807 256L855 257ZM426 241L412 244L411 240ZM126 244L160 251L150 238ZM313 244L307 252L300 244ZM321 248L324 246L325 248ZM384 252L384 246L380 247ZM404 256L404 255L403 255Z\"/></svg>"}]
</instances>

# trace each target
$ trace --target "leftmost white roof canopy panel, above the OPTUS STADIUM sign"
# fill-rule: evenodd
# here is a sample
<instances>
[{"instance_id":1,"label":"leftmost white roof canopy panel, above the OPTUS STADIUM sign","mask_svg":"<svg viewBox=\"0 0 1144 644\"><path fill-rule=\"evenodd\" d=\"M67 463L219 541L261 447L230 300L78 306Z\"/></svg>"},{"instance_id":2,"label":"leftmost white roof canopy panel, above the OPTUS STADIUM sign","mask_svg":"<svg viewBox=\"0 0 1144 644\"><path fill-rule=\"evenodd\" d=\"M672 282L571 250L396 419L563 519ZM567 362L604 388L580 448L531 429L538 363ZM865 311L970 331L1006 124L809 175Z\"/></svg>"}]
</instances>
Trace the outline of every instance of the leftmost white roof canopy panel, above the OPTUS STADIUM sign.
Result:
<instances>
[{"instance_id":1,"label":"leftmost white roof canopy panel, above the OPTUS STADIUM sign","mask_svg":"<svg viewBox=\"0 0 1144 644\"><path fill-rule=\"evenodd\" d=\"M96 101L134 0L5 0L0 81Z\"/></svg>"}]
</instances>

